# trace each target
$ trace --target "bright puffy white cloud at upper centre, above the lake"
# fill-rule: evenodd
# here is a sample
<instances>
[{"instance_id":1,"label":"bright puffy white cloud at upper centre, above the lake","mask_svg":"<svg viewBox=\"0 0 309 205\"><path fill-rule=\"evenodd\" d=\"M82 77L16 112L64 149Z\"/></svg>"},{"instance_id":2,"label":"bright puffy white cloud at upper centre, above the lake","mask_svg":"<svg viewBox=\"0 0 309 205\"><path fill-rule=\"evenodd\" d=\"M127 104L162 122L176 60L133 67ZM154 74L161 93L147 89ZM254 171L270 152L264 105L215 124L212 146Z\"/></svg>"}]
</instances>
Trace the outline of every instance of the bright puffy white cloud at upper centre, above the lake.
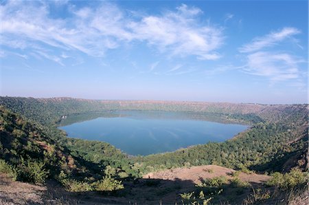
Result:
<instances>
[{"instance_id":1,"label":"bright puffy white cloud at upper centre, above the lake","mask_svg":"<svg viewBox=\"0 0 309 205\"><path fill-rule=\"evenodd\" d=\"M201 10L183 4L176 12L145 16L141 21L132 22L130 28L136 39L171 56L194 55L203 60L216 60L220 55L215 51L224 41L222 30L200 23L198 14Z\"/></svg>"}]
</instances>

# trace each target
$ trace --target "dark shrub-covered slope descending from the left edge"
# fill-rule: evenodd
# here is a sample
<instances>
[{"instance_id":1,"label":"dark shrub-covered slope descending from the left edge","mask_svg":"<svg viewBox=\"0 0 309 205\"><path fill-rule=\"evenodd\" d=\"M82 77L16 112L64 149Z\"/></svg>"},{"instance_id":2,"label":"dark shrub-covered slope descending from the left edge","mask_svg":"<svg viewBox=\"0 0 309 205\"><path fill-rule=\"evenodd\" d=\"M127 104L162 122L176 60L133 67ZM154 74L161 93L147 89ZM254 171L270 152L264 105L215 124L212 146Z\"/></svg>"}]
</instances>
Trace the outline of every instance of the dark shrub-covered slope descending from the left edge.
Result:
<instances>
[{"instance_id":1,"label":"dark shrub-covered slope descending from the left edge","mask_svg":"<svg viewBox=\"0 0 309 205\"><path fill-rule=\"evenodd\" d=\"M43 126L3 107L0 107L0 136L1 163L12 168L10 174L17 180L42 183L60 171L74 174L86 171L69 150L49 138Z\"/></svg>"}]
</instances>

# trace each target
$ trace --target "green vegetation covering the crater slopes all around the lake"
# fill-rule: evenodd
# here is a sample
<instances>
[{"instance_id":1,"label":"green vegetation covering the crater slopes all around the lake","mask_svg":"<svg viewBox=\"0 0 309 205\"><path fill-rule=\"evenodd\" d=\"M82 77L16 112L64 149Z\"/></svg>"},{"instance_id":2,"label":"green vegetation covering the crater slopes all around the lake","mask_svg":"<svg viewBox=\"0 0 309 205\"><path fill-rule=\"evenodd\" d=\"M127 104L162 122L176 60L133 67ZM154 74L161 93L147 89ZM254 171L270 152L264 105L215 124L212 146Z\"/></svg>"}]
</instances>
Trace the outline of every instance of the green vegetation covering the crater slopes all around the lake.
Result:
<instances>
[{"instance_id":1,"label":"green vegetation covering the crater slopes all around the lake","mask_svg":"<svg viewBox=\"0 0 309 205\"><path fill-rule=\"evenodd\" d=\"M279 171L273 173L268 185L286 190L304 184L299 170L308 169L308 105L13 97L0 97L0 105L0 172L16 180L44 183L54 179L69 191L113 191L124 188L121 181L129 182L150 171L217 164L247 173ZM67 138L57 129L62 116L89 114L86 118L91 118L93 114L100 116L100 112L113 115L119 109L181 111L198 119L251 127L226 142L145 157L128 156L106 142ZM220 192L225 183L220 180L207 181L203 186L208 190L216 182L216 191ZM249 186L237 177L229 183ZM184 193L183 203L210 201L207 190L199 187L195 193ZM266 193L259 195L262 200L267 198ZM248 202L251 200L249 197Z\"/></svg>"}]
</instances>

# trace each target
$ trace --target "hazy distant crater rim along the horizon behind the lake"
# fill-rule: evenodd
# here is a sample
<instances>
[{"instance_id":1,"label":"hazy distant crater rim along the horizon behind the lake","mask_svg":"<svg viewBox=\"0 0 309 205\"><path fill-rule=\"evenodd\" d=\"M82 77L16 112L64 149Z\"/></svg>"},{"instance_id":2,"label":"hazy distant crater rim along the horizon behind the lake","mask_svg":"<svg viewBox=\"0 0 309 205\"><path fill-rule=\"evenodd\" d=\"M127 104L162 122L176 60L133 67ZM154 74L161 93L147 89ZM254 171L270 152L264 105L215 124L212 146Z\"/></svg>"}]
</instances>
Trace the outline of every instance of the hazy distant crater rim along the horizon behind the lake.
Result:
<instances>
[{"instance_id":1,"label":"hazy distant crater rim along the horizon behind the lake","mask_svg":"<svg viewBox=\"0 0 309 205\"><path fill-rule=\"evenodd\" d=\"M225 118L259 122L279 120L284 111L308 112L308 105L260 105L228 102L188 102L154 100L85 100L77 98L21 98L0 96L0 105L43 124L61 116L108 110L184 111L224 115ZM303 112L304 111L304 112Z\"/></svg>"}]
</instances>

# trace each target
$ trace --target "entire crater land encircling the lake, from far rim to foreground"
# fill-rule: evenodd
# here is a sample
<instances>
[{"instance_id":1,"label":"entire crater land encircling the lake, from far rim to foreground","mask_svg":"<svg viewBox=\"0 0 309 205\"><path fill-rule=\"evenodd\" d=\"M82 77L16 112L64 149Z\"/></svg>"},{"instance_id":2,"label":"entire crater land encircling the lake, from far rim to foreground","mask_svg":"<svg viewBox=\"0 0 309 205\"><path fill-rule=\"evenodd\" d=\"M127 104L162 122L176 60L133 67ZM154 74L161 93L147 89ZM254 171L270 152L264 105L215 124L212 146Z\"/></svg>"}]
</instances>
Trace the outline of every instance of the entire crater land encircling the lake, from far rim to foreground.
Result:
<instances>
[{"instance_id":1,"label":"entire crater land encircling the lake, from far rim to foreground","mask_svg":"<svg viewBox=\"0 0 309 205\"><path fill-rule=\"evenodd\" d=\"M58 187L53 195L71 202L250 204L253 195L259 195L257 202L273 203L292 201L287 193L304 193L308 105L15 97L0 102L0 172L45 191ZM145 157L128 156L105 142L67 138L57 129L61 116L117 109L211 114L251 127L226 142Z\"/></svg>"}]
</instances>

